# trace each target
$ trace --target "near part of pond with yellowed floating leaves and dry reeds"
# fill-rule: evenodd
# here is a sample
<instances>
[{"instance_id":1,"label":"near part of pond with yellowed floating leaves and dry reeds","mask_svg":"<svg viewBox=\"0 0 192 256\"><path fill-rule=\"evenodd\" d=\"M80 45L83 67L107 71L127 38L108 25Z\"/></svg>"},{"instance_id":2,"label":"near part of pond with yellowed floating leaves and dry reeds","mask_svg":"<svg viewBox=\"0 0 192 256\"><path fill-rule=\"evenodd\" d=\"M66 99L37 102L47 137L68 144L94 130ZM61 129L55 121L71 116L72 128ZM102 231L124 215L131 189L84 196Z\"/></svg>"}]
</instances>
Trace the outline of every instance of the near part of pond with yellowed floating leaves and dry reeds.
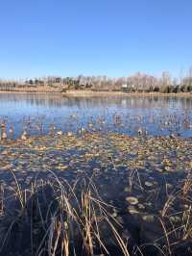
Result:
<instances>
[{"instance_id":1,"label":"near part of pond with yellowed floating leaves and dry reeds","mask_svg":"<svg viewBox=\"0 0 192 256\"><path fill-rule=\"evenodd\" d=\"M191 255L191 142L1 141L1 255Z\"/></svg>"}]
</instances>

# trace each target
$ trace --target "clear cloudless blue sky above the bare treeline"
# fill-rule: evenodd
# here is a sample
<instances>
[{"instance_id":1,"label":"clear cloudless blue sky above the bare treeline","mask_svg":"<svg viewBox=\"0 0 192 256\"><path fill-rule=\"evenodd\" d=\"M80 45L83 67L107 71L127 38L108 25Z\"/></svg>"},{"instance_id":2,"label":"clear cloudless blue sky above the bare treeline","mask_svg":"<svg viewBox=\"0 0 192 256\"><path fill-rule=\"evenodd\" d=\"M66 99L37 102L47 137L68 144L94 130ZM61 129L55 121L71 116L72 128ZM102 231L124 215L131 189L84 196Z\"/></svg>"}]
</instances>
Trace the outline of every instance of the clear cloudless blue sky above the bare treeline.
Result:
<instances>
[{"instance_id":1,"label":"clear cloudless blue sky above the bare treeline","mask_svg":"<svg viewBox=\"0 0 192 256\"><path fill-rule=\"evenodd\" d=\"M0 77L174 76L192 65L191 0L2 0Z\"/></svg>"}]
</instances>

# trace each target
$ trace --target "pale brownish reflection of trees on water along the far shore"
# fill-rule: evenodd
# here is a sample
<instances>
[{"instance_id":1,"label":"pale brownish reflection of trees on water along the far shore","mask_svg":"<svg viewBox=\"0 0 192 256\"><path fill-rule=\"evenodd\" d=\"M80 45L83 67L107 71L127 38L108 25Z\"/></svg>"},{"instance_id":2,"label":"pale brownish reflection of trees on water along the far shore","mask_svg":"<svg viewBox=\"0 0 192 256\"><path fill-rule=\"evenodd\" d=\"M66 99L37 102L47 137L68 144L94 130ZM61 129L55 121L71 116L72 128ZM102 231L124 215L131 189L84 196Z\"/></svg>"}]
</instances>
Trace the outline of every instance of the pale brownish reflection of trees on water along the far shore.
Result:
<instances>
[{"instance_id":1,"label":"pale brownish reflection of trees on water along the far shore","mask_svg":"<svg viewBox=\"0 0 192 256\"><path fill-rule=\"evenodd\" d=\"M31 106L42 107L95 107L119 106L123 108L192 108L190 97L158 96L110 96L110 97L62 97L57 93L0 93L0 102L25 102Z\"/></svg>"}]
</instances>

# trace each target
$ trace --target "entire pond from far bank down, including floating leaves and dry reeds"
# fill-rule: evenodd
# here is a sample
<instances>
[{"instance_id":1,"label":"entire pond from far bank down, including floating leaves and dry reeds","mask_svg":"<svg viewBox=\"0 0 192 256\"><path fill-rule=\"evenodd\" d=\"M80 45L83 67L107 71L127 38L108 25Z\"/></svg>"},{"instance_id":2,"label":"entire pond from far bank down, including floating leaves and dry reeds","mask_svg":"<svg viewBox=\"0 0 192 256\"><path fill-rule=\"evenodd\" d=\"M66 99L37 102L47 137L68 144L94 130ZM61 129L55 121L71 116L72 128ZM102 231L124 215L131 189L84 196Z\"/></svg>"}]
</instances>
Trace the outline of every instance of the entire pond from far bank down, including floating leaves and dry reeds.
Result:
<instances>
[{"instance_id":1,"label":"entire pond from far bank down, including floating leaves and dry reeds","mask_svg":"<svg viewBox=\"0 0 192 256\"><path fill-rule=\"evenodd\" d=\"M1 104L0 255L191 255L190 99Z\"/></svg>"}]
</instances>

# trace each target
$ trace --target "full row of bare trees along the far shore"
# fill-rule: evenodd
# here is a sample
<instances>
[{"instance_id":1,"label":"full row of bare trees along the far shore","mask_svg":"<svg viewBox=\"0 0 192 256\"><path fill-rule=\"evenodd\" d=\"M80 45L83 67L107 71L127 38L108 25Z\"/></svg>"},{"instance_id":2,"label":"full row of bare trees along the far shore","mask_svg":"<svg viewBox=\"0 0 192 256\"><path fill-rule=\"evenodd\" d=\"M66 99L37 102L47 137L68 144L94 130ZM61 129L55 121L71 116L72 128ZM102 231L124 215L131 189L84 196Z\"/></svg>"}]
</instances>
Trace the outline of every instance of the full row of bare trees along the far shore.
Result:
<instances>
[{"instance_id":1,"label":"full row of bare trees along the far shore","mask_svg":"<svg viewBox=\"0 0 192 256\"><path fill-rule=\"evenodd\" d=\"M189 92L192 91L192 68L187 76L173 79L169 72L165 71L161 77L155 77L137 72L129 77L108 78L107 76L84 76L78 77L42 77L27 79L25 81L0 80L0 90L12 90L13 88L28 87L59 87L68 90L132 90L132 91L160 91Z\"/></svg>"}]
</instances>

